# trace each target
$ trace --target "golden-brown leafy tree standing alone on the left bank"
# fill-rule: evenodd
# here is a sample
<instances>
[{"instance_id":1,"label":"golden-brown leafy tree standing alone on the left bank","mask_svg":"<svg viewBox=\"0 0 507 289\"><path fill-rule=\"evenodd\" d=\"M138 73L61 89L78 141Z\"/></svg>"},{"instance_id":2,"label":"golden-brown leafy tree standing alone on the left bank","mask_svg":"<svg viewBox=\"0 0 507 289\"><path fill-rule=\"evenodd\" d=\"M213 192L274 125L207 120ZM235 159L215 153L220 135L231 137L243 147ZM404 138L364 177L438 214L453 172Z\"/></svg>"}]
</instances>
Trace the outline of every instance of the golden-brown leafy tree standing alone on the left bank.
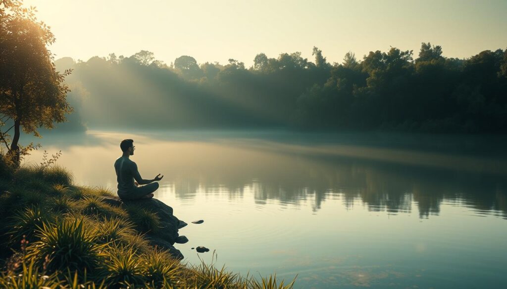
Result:
<instances>
[{"instance_id":1,"label":"golden-brown leafy tree standing alone on the left bank","mask_svg":"<svg viewBox=\"0 0 507 289\"><path fill-rule=\"evenodd\" d=\"M72 110L66 101L69 89L63 84L70 70L57 72L46 47L55 37L50 27L37 22L34 9L23 9L20 3L0 2L0 128L10 126L0 132L0 140L15 164L34 147L19 144L21 130L40 137L38 128L52 129L53 122L65 121Z\"/></svg>"}]
</instances>

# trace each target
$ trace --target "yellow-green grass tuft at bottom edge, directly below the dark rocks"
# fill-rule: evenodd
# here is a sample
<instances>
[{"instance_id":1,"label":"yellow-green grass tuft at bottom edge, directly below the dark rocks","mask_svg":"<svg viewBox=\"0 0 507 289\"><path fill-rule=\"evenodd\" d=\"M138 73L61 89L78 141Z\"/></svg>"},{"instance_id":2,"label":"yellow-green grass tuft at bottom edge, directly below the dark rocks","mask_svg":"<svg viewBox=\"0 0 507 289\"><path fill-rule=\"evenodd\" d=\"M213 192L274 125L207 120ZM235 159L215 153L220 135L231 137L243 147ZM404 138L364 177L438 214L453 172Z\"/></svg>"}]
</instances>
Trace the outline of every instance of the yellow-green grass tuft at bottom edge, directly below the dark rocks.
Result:
<instances>
[{"instance_id":1,"label":"yellow-green grass tuft at bottom edge, directly below the dark rocks","mask_svg":"<svg viewBox=\"0 0 507 289\"><path fill-rule=\"evenodd\" d=\"M182 265L173 259L167 251L153 250L143 256L145 266L142 275L155 286L174 285L182 280Z\"/></svg>"}]
</instances>

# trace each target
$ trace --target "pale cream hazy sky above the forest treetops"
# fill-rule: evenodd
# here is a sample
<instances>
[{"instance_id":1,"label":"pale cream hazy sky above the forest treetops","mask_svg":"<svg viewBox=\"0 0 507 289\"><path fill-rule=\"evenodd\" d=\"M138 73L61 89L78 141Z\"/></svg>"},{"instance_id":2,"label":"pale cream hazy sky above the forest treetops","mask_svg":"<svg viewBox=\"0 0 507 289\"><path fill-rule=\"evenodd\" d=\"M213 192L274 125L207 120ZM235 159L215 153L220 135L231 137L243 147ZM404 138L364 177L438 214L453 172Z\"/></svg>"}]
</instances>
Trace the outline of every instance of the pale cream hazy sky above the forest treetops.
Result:
<instances>
[{"instance_id":1,"label":"pale cream hazy sky above the forest treetops","mask_svg":"<svg viewBox=\"0 0 507 289\"><path fill-rule=\"evenodd\" d=\"M414 50L421 42L444 56L466 58L507 48L506 0L25 0L51 26L56 59L155 53L167 64L181 55L198 63L252 65L296 51L313 61L317 46L329 62L347 51L360 59L389 47Z\"/></svg>"}]
</instances>

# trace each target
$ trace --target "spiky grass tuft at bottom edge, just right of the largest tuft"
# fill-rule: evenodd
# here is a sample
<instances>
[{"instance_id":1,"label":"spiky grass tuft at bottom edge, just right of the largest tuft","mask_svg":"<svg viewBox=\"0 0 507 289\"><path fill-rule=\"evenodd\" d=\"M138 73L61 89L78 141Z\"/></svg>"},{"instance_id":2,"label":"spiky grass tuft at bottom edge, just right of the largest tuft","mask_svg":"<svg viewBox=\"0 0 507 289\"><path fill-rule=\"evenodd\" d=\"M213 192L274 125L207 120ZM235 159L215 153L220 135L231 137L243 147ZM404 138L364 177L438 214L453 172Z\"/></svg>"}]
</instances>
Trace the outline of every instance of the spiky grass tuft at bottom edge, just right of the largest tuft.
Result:
<instances>
[{"instance_id":1,"label":"spiky grass tuft at bottom edge, just right of the largest tuft","mask_svg":"<svg viewBox=\"0 0 507 289\"><path fill-rule=\"evenodd\" d=\"M103 269L107 272L106 283L111 287L143 283L141 264L136 252L132 249L119 248L109 254Z\"/></svg>"}]
</instances>

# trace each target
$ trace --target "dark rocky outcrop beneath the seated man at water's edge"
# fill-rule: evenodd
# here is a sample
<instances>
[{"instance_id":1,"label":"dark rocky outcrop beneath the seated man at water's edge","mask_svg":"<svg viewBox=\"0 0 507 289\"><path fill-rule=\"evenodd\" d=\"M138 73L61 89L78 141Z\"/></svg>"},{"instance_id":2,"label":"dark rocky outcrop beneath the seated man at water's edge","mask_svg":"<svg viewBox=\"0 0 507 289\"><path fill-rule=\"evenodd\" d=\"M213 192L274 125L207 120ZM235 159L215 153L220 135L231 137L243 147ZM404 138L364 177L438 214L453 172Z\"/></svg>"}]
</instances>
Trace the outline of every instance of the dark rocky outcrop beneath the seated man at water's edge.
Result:
<instances>
[{"instance_id":1,"label":"dark rocky outcrop beneath the seated man at water's edge","mask_svg":"<svg viewBox=\"0 0 507 289\"><path fill-rule=\"evenodd\" d=\"M123 205L135 205L139 209L146 209L157 214L160 219L160 230L156 233L147 233L145 236L154 246L168 250L171 255L177 259L183 259L183 254L174 247L176 241L180 242L184 236L179 236L178 230L187 225L187 223L178 220L172 212L172 208L158 199L140 199L140 200L122 200L115 196L105 196L102 201L121 207Z\"/></svg>"}]
</instances>

